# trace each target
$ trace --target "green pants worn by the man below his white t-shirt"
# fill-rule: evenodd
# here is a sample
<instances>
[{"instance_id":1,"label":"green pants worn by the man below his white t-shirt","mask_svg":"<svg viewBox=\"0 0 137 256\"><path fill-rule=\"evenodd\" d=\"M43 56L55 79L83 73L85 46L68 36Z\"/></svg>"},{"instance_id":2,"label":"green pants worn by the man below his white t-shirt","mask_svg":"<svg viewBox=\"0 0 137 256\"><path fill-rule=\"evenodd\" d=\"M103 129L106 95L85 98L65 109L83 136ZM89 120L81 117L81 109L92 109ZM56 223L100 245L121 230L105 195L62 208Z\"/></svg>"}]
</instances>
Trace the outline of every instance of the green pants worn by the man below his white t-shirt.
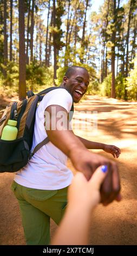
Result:
<instances>
[{"instance_id":1,"label":"green pants worn by the man below his white t-shirt","mask_svg":"<svg viewBox=\"0 0 137 256\"><path fill-rule=\"evenodd\" d=\"M49 245L50 217L59 224L67 205L68 187L61 190L36 190L11 185L18 200L27 245Z\"/></svg>"}]
</instances>

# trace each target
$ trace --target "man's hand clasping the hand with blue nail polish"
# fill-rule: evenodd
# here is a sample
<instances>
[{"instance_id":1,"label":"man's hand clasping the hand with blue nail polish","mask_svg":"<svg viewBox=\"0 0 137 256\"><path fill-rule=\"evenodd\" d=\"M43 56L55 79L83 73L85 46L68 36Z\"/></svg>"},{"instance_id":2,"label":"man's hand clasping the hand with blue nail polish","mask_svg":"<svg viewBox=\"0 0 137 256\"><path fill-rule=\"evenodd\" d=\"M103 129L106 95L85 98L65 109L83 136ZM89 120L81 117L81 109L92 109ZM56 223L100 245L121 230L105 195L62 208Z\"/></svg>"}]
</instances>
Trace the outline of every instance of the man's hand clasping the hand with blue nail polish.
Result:
<instances>
[{"instance_id":1,"label":"man's hand clasping the hand with blue nail polish","mask_svg":"<svg viewBox=\"0 0 137 256\"><path fill-rule=\"evenodd\" d=\"M87 149L73 149L69 155L74 167L82 172L89 180L96 168L102 165L108 166L108 173L101 186L101 203L107 205L113 200L121 200L120 178L118 166L115 162L98 154L91 153Z\"/></svg>"}]
</instances>

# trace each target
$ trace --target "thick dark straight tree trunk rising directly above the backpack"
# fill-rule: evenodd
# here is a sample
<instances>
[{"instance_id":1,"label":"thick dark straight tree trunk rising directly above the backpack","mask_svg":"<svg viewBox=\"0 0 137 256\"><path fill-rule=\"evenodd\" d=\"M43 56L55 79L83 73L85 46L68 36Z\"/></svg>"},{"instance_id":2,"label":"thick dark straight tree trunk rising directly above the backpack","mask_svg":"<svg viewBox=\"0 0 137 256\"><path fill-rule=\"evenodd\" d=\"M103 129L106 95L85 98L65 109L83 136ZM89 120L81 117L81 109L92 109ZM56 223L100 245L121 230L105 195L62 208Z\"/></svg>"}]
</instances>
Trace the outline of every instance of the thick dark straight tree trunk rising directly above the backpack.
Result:
<instances>
[{"instance_id":1,"label":"thick dark straight tree trunk rising directly above the backpack","mask_svg":"<svg viewBox=\"0 0 137 256\"><path fill-rule=\"evenodd\" d=\"M23 100L26 97L26 85L25 85L25 23L24 1L19 0L18 13L19 13L19 100Z\"/></svg>"}]
</instances>

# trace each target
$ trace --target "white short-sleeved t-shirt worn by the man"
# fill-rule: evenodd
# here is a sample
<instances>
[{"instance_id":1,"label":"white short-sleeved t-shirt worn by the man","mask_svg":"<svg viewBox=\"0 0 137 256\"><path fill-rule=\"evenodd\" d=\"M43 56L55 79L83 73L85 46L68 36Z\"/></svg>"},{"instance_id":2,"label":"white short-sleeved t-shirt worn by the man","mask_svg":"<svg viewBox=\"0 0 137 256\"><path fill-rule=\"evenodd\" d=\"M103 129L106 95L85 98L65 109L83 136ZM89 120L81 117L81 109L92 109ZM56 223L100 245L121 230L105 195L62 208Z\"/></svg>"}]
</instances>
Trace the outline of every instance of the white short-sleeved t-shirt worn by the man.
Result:
<instances>
[{"instance_id":1,"label":"white short-sleeved t-shirt worn by the man","mask_svg":"<svg viewBox=\"0 0 137 256\"><path fill-rule=\"evenodd\" d=\"M44 128L44 111L50 105L59 105L70 111L72 97L66 89L60 88L43 97L36 110L32 149L47 137ZM73 173L66 166L67 156L49 142L39 149L25 167L15 174L15 181L25 187L40 190L58 190L71 183Z\"/></svg>"}]
</instances>

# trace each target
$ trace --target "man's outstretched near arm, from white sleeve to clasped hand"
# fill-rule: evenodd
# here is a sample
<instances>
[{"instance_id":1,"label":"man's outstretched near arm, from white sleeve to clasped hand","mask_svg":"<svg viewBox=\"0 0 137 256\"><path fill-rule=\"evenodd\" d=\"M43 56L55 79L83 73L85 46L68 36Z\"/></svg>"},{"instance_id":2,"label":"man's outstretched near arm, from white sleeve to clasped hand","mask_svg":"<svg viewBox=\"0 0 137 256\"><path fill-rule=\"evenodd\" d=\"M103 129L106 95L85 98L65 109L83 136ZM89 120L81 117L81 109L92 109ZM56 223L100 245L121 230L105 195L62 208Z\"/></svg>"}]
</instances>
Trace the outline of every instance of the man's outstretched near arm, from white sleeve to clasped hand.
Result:
<instances>
[{"instance_id":1,"label":"man's outstretched near arm, from white sleeve to clasped hand","mask_svg":"<svg viewBox=\"0 0 137 256\"><path fill-rule=\"evenodd\" d=\"M56 113L52 112L52 107L56 107ZM116 163L88 151L80 139L74 135L73 131L67 129L67 126L69 127L68 119L66 119L67 126L66 124L63 124L62 127L61 125L58 126L61 113L68 115L66 109L61 106L54 105L46 109L45 124L46 127L50 126L50 129L46 127L45 129L49 140L70 158L75 169L82 172L87 180L91 178L97 167L107 165L109 172L101 187L101 202L109 204L114 199L120 200L120 179ZM54 129L51 129L53 121L55 123Z\"/></svg>"}]
</instances>

